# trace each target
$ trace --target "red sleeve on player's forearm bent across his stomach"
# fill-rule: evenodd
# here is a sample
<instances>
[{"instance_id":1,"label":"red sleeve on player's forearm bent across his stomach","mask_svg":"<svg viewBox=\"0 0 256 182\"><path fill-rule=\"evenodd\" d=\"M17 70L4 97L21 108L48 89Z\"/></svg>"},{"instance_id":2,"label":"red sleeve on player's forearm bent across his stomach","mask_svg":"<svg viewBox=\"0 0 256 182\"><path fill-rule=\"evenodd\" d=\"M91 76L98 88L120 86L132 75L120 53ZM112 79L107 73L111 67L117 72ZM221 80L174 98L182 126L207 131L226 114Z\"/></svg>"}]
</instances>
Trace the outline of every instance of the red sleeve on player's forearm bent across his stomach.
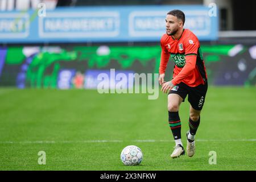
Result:
<instances>
[{"instance_id":1,"label":"red sleeve on player's forearm bent across his stomach","mask_svg":"<svg viewBox=\"0 0 256 182\"><path fill-rule=\"evenodd\" d=\"M196 68L196 55L187 55L185 56L186 64L181 69L179 74L172 79L172 84L177 85L179 84L185 77L188 76L188 74Z\"/></svg>"}]
</instances>

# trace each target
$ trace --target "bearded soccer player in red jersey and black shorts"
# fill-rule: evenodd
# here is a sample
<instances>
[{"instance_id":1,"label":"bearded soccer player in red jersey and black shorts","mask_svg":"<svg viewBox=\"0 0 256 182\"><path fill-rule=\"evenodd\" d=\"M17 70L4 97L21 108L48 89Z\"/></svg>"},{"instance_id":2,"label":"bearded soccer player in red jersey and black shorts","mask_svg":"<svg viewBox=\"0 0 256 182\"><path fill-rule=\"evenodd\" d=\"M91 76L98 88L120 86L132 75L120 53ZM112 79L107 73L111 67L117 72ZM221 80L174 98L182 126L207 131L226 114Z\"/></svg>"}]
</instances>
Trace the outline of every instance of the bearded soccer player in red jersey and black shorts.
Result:
<instances>
[{"instance_id":1,"label":"bearded soccer player in red jersey and black shorts","mask_svg":"<svg viewBox=\"0 0 256 182\"><path fill-rule=\"evenodd\" d=\"M179 107L188 95L189 131L187 131L187 154L195 154L195 135L200 124L200 112L203 108L207 93L207 73L199 40L190 30L184 29L185 15L180 10L172 10L166 16L166 34L160 40L162 47L159 66L159 84L162 91L168 93L169 125L174 135L176 146L171 158L178 158L185 154L181 142L181 122ZM175 66L171 81L164 81L170 56Z\"/></svg>"}]
</instances>

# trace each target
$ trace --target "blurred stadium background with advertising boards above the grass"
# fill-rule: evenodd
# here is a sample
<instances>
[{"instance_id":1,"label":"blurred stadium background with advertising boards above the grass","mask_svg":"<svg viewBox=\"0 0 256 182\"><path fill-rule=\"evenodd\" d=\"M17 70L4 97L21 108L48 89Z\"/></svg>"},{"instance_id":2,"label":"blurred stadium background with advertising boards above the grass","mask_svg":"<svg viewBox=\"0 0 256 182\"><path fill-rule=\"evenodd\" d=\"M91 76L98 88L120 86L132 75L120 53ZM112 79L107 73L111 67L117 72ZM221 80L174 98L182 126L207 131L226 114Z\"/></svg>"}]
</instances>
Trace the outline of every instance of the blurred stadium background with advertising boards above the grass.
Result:
<instances>
[{"instance_id":1,"label":"blurred stadium background with advertising boards above the grass","mask_svg":"<svg viewBox=\"0 0 256 182\"><path fill-rule=\"evenodd\" d=\"M38 16L40 2L46 5L45 17ZM216 17L208 16L210 3L217 5ZM86 82L95 81L97 74L86 75L88 70L157 73L164 16L174 8L187 11L185 27L199 36L210 84L255 85L254 5L209 0L1 0L0 86L67 89L80 88L82 81L82 87L94 88L97 84Z\"/></svg>"}]
</instances>

